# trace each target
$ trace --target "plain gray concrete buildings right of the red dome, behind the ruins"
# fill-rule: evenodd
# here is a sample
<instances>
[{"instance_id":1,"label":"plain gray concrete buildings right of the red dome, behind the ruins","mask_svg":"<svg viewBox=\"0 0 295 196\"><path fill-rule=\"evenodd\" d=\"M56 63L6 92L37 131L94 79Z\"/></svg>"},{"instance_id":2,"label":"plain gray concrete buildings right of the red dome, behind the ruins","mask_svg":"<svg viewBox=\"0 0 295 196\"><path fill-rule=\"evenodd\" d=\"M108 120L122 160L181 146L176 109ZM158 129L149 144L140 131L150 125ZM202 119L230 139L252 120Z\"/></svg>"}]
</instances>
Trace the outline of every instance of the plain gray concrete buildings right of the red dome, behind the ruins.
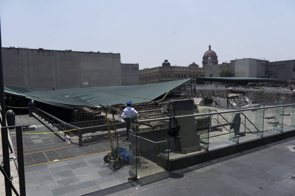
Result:
<instances>
[{"instance_id":1,"label":"plain gray concrete buildings right of the red dome, behind the ruins","mask_svg":"<svg viewBox=\"0 0 295 196\"><path fill-rule=\"evenodd\" d=\"M295 60L269 62L264 59L236 59L229 63L206 65L205 77L220 77L223 68L230 68L232 77L275 78L295 80Z\"/></svg>"}]
</instances>

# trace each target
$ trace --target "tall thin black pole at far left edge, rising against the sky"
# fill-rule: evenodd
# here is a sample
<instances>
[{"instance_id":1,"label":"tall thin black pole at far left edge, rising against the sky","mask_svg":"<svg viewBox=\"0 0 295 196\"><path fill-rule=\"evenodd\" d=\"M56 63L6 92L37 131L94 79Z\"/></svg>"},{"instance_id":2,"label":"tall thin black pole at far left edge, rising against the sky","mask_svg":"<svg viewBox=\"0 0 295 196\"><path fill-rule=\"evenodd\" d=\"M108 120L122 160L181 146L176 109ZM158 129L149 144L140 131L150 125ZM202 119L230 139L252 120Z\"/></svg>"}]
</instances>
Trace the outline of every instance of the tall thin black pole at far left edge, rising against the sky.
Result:
<instances>
[{"instance_id":1,"label":"tall thin black pole at far left edge, rising against the sky","mask_svg":"<svg viewBox=\"0 0 295 196\"><path fill-rule=\"evenodd\" d=\"M5 127L6 118L5 118L5 95L4 95L3 64L2 64L1 21L0 21L0 99L1 99L1 116L2 116L1 126Z\"/></svg>"}]
</instances>

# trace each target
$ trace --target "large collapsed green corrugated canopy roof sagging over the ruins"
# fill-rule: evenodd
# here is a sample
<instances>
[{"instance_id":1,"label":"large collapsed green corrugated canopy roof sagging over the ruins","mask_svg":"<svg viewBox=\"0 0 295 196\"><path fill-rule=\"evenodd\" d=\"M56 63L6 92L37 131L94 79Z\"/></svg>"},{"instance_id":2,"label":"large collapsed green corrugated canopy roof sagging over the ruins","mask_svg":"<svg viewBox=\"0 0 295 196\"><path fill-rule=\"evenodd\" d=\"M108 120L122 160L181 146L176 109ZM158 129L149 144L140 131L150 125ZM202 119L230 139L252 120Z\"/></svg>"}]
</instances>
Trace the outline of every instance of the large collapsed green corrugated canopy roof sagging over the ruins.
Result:
<instances>
[{"instance_id":1,"label":"large collapsed green corrugated canopy roof sagging over the ruins","mask_svg":"<svg viewBox=\"0 0 295 196\"><path fill-rule=\"evenodd\" d=\"M95 107L102 104L114 105L132 103L142 103L153 101L166 92L176 89L192 79L175 80L163 83L153 83L134 86L107 86L80 89L64 89L53 91L39 91L22 87L5 86L5 93L23 96L42 103L74 109L75 107ZM19 93L21 92L21 93Z\"/></svg>"}]
</instances>

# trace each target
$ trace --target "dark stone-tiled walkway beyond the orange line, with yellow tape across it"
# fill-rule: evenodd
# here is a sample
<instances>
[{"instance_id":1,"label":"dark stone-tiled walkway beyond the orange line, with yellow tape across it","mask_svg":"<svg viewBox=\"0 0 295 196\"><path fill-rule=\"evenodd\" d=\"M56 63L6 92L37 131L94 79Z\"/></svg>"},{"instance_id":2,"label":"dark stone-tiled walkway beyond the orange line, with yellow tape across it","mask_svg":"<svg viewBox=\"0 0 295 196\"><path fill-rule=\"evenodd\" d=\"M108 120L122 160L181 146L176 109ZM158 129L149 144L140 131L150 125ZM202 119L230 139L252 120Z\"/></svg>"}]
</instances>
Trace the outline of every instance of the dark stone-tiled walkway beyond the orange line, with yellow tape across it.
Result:
<instances>
[{"instance_id":1,"label":"dark stone-tiled walkway beyond the orange line, with yellow tape across it","mask_svg":"<svg viewBox=\"0 0 295 196\"><path fill-rule=\"evenodd\" d=\"M16 116L16 125L35 126L35 131L24 131L24 133L51 132L45 125L42 125L34 117L28 115ZM15 132L11 130L10 132ZM15 134L11 134L14 149L16 151ZM128 148L128 141L120 139L120 147ZM84 155L107 152L110 150L109 141L102 141L94 144L84 144L77 146L61 140L55 134L23 134L23 150L25 166L42 164L54 160L63 160Z\"/></svg>"}]
</instances>

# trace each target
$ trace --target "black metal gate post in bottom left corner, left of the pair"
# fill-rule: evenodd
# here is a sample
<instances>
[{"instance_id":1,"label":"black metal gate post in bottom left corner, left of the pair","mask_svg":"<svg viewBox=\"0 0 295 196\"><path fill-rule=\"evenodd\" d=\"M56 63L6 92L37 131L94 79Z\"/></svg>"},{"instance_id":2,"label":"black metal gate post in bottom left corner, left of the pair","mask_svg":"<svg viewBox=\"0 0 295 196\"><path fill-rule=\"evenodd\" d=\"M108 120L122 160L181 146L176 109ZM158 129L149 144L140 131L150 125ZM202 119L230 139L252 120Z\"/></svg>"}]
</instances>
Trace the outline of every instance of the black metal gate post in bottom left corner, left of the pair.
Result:
<instances>
[{"instance_id":1,"label":"black metal gate post in bottom left corner, left of the pair","mask_svg":"<svg viewBox=\"0 0 295 196\"><path fill-rule=\"evenodd\" d=\"M1 128L2 135L2 153L3 153L3 166L6 175L10 178L10 160L8 150L8 128ZM1 166L0 166L1 167ZM11 196L10 181L5 178L5 193L6 196Z\"/></svg>"}]
</instances>

